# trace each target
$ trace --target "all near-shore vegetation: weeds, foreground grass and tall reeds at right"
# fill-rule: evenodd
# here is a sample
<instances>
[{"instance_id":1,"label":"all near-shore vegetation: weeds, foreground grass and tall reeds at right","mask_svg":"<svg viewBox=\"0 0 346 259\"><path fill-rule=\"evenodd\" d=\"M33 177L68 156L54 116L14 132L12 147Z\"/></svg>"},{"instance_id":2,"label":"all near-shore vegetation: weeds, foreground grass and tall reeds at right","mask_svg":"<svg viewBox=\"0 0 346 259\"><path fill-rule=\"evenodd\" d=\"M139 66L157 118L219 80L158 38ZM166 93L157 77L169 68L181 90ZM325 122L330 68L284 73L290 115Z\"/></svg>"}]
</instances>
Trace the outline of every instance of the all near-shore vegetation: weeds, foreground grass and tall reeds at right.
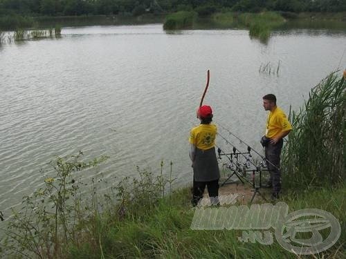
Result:
<instances>
[{"instance_id":1,"label":"all near-shore vegetation: weeds, foreground grass and tall reeds at right","mask_svg":"<svg viewBox=\"0 0 346 259\"><path fill-rule=\"evenodd\" d=\"M345 97L346 80L334 72L312 88L299 111L291 111L293 131L282 153L280 198L289 213L308 208L331 213L342 230ZM138 177L114 180L100 172L108 157L83 156L56 157L42 170L39 189L4 215L1 258L301 258L276 240L271 245L239 242L241 230L191 229L190 186L172 189L172 162L161 161L157 173L138 168ZM92 179L83 178L93 169ZM235 205L249 206L244 200ZM323 240L329 232L320 231ZM295 238L310 238L304 234ZM346 231L341 231L332 247L311 258L345 258L345 242Z\"/></svg>"}]
</instances>

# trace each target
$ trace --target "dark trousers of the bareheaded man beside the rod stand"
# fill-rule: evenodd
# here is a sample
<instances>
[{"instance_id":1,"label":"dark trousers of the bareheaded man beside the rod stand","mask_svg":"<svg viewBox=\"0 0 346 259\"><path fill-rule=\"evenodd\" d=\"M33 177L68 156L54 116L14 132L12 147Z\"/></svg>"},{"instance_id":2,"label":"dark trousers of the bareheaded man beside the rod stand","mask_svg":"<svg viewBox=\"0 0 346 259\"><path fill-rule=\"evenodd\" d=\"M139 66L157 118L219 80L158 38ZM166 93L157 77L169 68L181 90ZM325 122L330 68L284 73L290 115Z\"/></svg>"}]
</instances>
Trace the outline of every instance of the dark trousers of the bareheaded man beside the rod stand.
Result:
<instances>
[{"instance_id":1,"label":"dark trousers of the bareheaded man beside the rod stand","mask_svg":"<svg viewBox=\"0 0 346 259\"><path fill-rule=\"evenodd\" d=\"M281 139L276 144L269 142L266 146L266 165L271 175L269 182L273 185L273 193L279 193L281 190L280 155L283 143Z\"/></svg>"}]
</instances>

